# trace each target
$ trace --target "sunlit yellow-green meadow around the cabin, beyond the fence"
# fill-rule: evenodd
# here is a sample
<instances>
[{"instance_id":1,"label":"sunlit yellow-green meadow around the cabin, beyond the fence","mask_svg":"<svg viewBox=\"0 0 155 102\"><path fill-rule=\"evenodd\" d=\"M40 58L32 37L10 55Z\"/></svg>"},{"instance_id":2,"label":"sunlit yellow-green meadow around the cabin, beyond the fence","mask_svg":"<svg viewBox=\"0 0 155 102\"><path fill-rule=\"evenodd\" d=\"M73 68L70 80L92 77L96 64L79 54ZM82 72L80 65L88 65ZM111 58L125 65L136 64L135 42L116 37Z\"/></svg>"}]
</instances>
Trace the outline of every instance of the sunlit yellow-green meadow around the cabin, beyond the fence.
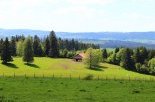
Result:
<instances>
[{"instance_id":1,"label":"sunlit yellow-green meadow around the cabin, beyond the fence","mask_svg":"<svg viewBox=\"0 0 155 102\"><path fill-rule=\"evenodd\" d=\"M1 62L0 62L1 63ZM101 63L99 70L90 70L82 62L74 62L71 59L52 59L46 57L35 58L34 64L26 65L21 58L14 58L12 64L0 64L0 75L3 76L38 76L38 77L77 77L82 78L89 74L94 78L117 79L155 79L154 76L139 74L107 63Z\"/></svg>"}]
</instances>

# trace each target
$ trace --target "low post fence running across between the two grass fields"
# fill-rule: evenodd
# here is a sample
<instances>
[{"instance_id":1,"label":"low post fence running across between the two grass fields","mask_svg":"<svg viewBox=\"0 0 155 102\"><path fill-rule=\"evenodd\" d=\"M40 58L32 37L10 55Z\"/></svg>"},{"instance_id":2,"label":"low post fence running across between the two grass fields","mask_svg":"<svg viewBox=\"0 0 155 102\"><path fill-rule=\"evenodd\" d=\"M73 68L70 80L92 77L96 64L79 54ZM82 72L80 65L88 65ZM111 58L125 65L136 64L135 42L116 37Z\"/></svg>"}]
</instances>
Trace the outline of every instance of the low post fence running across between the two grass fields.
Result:
<instances>
[{"instance_id":1,"label":"low post fence running across between the two grass fields","mask_svg":"<svg viewBox=\"0 0 155 102\"><path fill-rule=\"evenodd\" d=\"M12 75L7 75L5 73L3 74L0 74L0 77L1 78L7 78L7 77L11 77L11 78L16 78L16 77L24 77L24 78L68 78L68 79L79 79L79 80L82 80L82 79L86 79L87 80L87 77L90 77L88 78L88 80L128 80L128 81L155 81L155 77L154 76L147 76L147 77L133 77L133 76L125 76L125 77L118 77L118 76L108 76L108 75L91 75L91 74L88 74L88 75L73 75L73 74L52 74L52 75L45 75L45 74L36 74L36 73L33 73L33 74L17 74L16 73L13 73Z\"/></svg>"}]
</instances>

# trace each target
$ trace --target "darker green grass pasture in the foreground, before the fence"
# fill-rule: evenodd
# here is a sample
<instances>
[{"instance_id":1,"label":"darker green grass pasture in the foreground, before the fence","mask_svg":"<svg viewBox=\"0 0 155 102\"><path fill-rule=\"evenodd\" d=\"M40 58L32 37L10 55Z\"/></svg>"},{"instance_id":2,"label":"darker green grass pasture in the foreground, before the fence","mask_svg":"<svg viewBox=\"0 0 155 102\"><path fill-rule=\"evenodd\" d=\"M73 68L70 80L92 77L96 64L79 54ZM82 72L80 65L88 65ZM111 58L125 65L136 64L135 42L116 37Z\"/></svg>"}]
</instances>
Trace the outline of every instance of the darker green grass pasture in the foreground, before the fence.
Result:
<instances>
[{"instance_id":1,"label":"darker green grass pasture in the foreground, before the fence","mask_svg":"<svg viewBox=\"0 0 155 102\"><path fill-rule=\"evenodd\" d=\"M0 102L154 102L155 82L1 78Z\"/></svg>"}]
</instances>

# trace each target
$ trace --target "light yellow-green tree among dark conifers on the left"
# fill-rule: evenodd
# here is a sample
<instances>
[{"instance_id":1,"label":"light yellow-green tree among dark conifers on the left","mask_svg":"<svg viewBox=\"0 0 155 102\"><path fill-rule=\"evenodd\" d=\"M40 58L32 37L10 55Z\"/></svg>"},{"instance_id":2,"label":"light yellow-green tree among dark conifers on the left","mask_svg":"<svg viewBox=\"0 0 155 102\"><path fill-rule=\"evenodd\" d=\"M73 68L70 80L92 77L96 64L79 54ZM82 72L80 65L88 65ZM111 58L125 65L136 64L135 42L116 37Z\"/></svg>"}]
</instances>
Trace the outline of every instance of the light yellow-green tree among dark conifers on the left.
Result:
<instances>
[{"instance_id":1,"label":"light yellow-green tree among dark conifers on the left","mask_svg":"<svg viewBox=\"0 0 155 102\"><path fill-rule=\"evenodd\" d=\"M23 40L19 40L17 43L17 48L16 48L16 54L17 56L23 56L23 50L24 50L24 47L23 47Z\"/></svg>"}]
</instances>

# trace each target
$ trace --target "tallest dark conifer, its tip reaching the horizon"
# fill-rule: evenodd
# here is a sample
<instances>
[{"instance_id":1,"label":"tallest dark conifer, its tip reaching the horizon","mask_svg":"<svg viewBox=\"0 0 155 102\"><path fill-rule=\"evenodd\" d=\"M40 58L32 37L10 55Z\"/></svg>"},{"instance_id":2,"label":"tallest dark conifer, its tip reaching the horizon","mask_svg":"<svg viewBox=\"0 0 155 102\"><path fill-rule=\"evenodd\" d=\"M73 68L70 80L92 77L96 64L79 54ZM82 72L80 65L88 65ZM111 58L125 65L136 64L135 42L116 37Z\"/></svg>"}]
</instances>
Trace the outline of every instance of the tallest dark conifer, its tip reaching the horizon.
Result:
<instances>
[{"instance_id":1,"label":"tallest dark conifer, its tip reaching the horizon","mask_svg":"<svg viewBox=\"0 0 155 102\"><path fill-rule=\"evenodd\" d=\"M59 57L59 46L58 46L57 38L54 31L50 32L49 39L50 39L49 56L54 58Z\"/></svg>"}]
</instances>

